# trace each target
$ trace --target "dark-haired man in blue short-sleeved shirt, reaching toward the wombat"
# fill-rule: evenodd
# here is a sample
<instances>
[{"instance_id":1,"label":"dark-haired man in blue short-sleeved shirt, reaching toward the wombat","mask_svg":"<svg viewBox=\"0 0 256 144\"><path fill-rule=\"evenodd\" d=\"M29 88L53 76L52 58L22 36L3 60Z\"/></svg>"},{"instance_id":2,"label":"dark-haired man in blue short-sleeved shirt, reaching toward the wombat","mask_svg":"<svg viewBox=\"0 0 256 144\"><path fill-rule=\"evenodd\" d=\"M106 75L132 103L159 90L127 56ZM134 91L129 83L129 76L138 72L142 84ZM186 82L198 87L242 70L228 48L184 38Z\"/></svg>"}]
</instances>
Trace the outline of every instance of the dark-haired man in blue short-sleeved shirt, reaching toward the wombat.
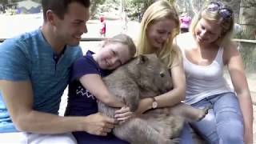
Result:
<instances>
[{"instance_id":1,"label":"dark-haired man in blue short-sleeved shirt, reaching toward the wombat","mask_svg":"<svg viewBox=\"0 0 256 144\"><path fill-rule=\"evenodd\" d=\"M75 143L71 131L105 135L114 119L61 117L70 66L82 56L89 0L42 0L42 27L0 46L0 143Z\"/></svg>"}]
</instances>

